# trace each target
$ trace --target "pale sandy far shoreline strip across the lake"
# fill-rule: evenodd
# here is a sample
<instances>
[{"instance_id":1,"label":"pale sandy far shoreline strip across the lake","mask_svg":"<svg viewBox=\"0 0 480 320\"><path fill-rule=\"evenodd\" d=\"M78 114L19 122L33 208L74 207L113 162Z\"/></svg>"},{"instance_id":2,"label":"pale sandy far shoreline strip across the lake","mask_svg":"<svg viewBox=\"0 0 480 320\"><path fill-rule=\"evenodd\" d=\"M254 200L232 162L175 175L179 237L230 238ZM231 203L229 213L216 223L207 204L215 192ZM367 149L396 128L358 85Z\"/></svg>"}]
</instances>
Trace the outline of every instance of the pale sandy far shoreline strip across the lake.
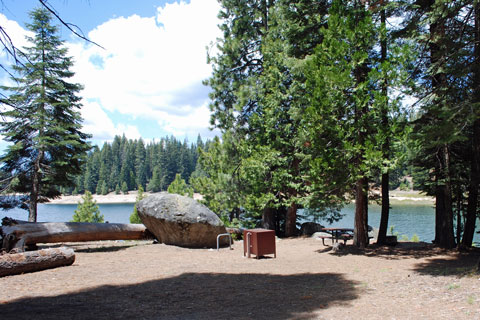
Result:
<instances>
[{"instance_id":1,"label":"pale sandy far shoreline strip across the lake","mask_svg":"<svg viewBox=\"0 0 480 320\"><path fill-rule=\"evenodd\" d=\"M114 192L109 193L107 195L97 195L94 194L93 200L97 202L97 204L133 204L137 200L138 191L130 191L128 194L115 194ZM148 196L151 193L145 192L144 195ZM196 200L202 199L202 196L198 193L193 195L193 198ZM435 203L435 199L433 197L428 197L421 194L418 191L391 191L390 192L390 201L394 203L425 203L425 204L433 204ZM78 204L82 202L82 195L75 195L75 196L61 196L58 199L50 200L45 204Z\"/></svg>"}]
</instances>

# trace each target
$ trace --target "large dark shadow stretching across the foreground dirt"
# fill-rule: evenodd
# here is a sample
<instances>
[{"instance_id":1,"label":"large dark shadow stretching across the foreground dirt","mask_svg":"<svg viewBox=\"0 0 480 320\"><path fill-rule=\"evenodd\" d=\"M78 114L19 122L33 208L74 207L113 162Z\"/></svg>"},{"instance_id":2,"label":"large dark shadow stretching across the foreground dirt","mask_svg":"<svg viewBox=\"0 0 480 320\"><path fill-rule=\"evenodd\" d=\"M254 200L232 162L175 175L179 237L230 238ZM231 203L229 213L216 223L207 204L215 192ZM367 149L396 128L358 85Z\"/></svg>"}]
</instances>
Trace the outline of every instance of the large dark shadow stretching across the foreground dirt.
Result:
<instances>
[{"instance_id":1,"label":"large dark shadow stretching across the foreground dirt","mask_svg":"<svg viewBox=\"0 0 480 320\"><path fill-rule=\"evenodd\" d=\"M311 319L348 305L359 283L336 273L185 273L0 304L2 319Z\"/></svg>"}]
</instances>

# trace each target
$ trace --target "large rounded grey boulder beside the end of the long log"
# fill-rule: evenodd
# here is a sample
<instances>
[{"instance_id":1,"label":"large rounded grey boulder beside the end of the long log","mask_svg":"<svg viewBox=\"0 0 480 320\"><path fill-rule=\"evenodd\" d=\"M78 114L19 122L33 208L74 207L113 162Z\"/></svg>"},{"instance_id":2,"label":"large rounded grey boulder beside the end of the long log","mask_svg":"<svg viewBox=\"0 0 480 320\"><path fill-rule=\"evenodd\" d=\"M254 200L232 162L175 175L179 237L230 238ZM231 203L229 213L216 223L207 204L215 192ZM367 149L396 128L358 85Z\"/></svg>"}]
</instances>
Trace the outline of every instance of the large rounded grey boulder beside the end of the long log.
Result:
<instances>
[{"instance_id":1,"label":"large rounded grey boulder beside the end of the long log","mask_svg":"<svg viewBox=\"0 0 480 320\"><path fill-rule=\"evenodd\" d=\"M217 236L227 233L223 222L210 209L178 194L153 194L137 204L137 211L147 229L165 244L216 248ZM228 245L228 237L221 237L220 245Z\"/></svg>"}]
</instances>

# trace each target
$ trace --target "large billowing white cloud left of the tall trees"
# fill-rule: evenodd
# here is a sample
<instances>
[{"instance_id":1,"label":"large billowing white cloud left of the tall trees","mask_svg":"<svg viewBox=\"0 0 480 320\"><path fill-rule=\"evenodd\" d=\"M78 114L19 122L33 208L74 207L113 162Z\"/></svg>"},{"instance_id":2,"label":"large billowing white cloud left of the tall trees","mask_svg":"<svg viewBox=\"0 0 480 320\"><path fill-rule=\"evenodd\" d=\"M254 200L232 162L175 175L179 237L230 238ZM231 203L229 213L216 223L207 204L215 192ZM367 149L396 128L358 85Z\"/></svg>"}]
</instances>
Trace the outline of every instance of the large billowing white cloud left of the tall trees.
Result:
<instances>
[{"instance_id":1,"label":"large billowing white cloud left of the tall trees","mask_svg":"<svg viewBox=\"0 0 480 320\"><path fill-rule=\"evenodd\" d=\"M76 61L74 81L85 86L85 99L98 101L95 108L84 103L91 109L83 112L84 131L94 130L98 133L90 132L102 140L119 129L138 134L138 129L115 127L103 108L156 120L161 129L178 136L206 132L210 112L202 80L211 74L206 47L220 36L219 9L216 0L167 4L156 17L119 17L91 31L90 39L105 50L69 43ZM100 118L105 125L89 125Z\"/></svg>"}]
</instances>

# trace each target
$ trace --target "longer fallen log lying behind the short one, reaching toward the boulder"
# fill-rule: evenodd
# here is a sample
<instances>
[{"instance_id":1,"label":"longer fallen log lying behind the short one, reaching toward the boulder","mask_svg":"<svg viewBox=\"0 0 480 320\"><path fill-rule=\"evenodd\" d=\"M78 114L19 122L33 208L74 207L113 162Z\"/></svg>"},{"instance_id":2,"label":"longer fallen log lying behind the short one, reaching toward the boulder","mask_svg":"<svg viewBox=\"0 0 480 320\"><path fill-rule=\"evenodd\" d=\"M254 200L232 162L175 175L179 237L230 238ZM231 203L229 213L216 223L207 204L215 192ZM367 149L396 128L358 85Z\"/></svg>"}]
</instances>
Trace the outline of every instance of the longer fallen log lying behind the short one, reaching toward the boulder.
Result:
<instances>
[{"instance_id":1,"label":"longer fallen log lying behind the short one, reaching toward the boulder","mask_svg":"<svg viewBox=\"0 0 480 320\"><path fill-rule=\"evenodd\" d=\"M26 245L37 243L81 242L100 240L152 239L143 224L39 222L3 226L0 228L2 249L23 251Z\"/></svg>"}]
</instances>

